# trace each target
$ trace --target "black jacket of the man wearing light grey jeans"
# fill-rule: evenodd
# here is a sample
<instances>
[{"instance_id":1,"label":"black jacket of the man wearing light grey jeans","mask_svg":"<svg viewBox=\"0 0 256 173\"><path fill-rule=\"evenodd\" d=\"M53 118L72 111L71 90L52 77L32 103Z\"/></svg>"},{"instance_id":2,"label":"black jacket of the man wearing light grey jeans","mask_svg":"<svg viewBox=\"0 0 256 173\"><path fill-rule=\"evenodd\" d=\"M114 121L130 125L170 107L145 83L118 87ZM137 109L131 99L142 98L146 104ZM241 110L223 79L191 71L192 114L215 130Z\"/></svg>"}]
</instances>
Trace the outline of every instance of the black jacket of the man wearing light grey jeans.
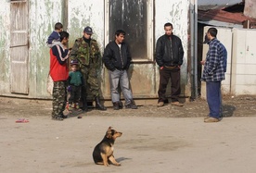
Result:
<instances>
[{"instance_id":1,"label":"black jacket of the man wearing light grey jeans","mask_svg":"<svg viewBox=\"0 0 256 173\"><path fill-rule=\"evenodd\" d=\"M115 41L110 42L103 55L105 67L111 71L115 69L128 69L131 64L131 54L126 43L122 43L121 48Z\"/></svg>"}]
</instances>

